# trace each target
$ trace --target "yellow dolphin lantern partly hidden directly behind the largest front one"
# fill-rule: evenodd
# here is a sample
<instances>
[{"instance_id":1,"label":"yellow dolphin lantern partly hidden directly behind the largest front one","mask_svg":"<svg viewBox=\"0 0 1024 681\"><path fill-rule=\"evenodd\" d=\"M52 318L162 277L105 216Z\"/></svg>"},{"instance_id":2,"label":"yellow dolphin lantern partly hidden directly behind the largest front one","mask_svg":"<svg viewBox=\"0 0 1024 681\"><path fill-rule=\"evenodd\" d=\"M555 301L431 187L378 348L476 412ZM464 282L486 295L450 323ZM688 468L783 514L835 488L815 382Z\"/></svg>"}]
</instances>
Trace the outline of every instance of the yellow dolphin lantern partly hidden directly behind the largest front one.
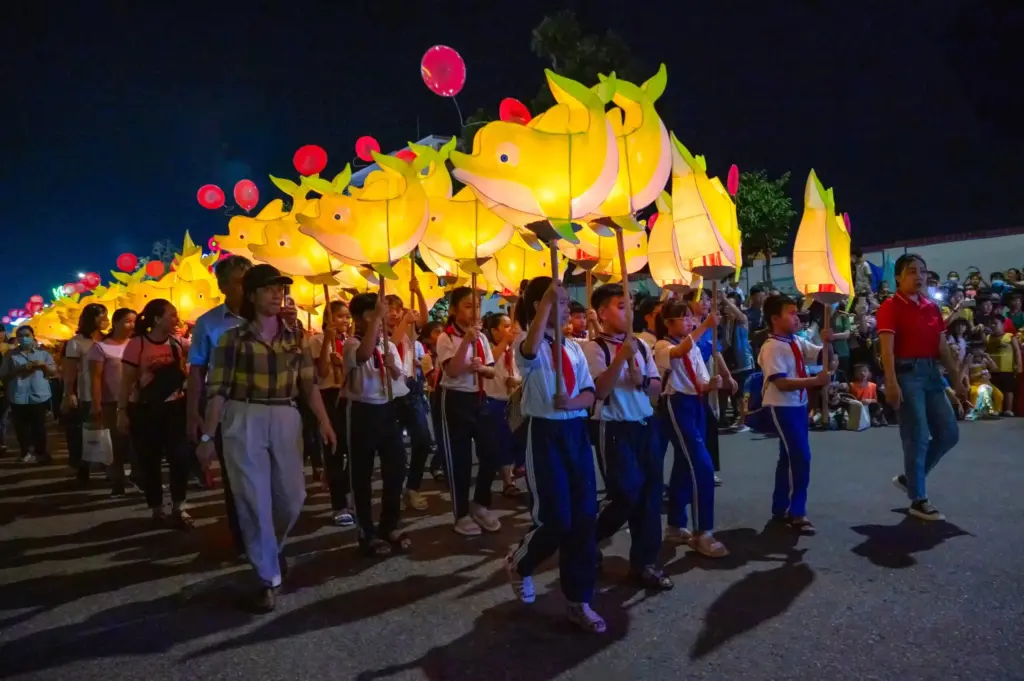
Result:
<instances>
[{"instance_id":1,"label":"yellow dolphin lantern partly hidden directly behind the largest front one","mask_svg":"<svg viewBox=\"0 0 1024 681\"><path fill-rule=\"evenodd\" d=\"M602 83L608 81L598 76ZM654 111L668 81L665 65L643 85L615 79L612 101L616 108L606 114L618 147L618 174L614 186L590 218L606 217L615 224L639 231L634 215L654 203L672 174L672 144L669 131Z\"/></svg>"}]
</instances>

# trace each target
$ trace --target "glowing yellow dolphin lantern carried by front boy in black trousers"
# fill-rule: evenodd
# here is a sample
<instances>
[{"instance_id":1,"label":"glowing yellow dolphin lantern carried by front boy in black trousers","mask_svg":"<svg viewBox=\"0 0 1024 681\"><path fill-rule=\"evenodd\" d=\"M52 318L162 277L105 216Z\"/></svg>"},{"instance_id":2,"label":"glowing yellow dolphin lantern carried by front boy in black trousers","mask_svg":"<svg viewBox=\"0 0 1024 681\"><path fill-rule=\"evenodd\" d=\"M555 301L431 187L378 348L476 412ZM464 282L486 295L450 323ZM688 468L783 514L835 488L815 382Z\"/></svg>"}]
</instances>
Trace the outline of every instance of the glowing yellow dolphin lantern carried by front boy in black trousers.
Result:
<instances>
[{"instance_id":1,"label":"glowing yellow dolphin lantern carried by front boy in black trousers","mask_svg":"<svg viewBox=\"0 0 1024 681\"><path fill-rule=\"evenodd\" d=\"M346 261L394 279L391 263L409 255L427 228L427 195L412 165L376 152L373 158L380 174L371 173L373 181L368 177L355 197L341 193L348 177L343 182L303 178L322 196L315 216L298 216L299 228Z\"/></svg>"}]
</instances>

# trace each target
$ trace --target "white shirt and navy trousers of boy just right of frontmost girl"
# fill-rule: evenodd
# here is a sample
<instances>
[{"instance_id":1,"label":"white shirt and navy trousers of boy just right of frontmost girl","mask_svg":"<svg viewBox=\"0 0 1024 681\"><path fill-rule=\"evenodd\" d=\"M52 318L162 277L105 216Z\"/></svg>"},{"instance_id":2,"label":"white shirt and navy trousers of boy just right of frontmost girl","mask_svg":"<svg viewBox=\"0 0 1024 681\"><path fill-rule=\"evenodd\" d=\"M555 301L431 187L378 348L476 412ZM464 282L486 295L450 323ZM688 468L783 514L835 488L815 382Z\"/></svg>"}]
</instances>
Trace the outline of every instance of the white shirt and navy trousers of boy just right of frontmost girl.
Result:
<instances>
[{"instance_id":1,"label":"white shirt and navy trousers of boy just right of frontmost girl","mask_svg":"<svg viewBox=\"0 0 1024 681\"><path fill-rule=\"evenodd\" d=\"M622 347L623 338L599 336L584 346L594 380L603 374ZM623 365L608 396L594 408L598 424L597 459L603 469L609 503L597 518L597 541L630 527L630 564L637 571L657 561L662 546L662 485L665 446L651 423L654 410L647 387L658 379L653 351L637 339L639 351ZM635 363L641 385L630 378Z\"/></svg>"}]
</instances>

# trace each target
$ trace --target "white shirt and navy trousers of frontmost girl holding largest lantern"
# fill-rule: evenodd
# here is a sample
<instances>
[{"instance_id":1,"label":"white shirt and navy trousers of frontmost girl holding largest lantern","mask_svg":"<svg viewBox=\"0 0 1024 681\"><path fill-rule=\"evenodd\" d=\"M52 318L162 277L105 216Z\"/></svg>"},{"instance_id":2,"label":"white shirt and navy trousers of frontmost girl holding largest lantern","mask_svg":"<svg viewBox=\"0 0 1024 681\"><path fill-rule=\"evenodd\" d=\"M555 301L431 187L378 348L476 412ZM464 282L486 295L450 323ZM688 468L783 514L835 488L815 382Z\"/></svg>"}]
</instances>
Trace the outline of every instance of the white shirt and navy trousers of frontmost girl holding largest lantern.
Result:
<instances>
[{"instance_id":1,"label":"white shirt and navy trousers of frontmost girl holding largest lantern","mask_svg":"<svg viewBox=\"0 0 1024 681\"><path fill-rule=\"evenodd\" d=\"M530 577L538 565L558 551L562 593L572 603L589 603L597 581L594 455L587 432L587 411L560 411L554 407L553 357L561 363L564 391L569 397L594 390L587 357L579 343L567 340L558 352L554 340L547 337L537 353L529 356L522 352L522 341L516 343L515 361L523 377L526 486L534 522L509 556L509 563L520 576Z\"/></svg>"}]
</instances>

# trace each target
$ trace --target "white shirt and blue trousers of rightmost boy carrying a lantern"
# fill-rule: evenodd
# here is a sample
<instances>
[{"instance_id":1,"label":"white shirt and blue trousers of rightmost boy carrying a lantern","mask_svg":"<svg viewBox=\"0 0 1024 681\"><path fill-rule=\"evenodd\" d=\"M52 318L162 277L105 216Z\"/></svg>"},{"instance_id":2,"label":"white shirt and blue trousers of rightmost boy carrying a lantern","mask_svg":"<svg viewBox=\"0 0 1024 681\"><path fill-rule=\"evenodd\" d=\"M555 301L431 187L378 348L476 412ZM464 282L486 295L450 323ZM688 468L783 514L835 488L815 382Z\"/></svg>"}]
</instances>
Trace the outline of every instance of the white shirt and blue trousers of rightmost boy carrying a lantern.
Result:
<instances>
[{"instance_id":1,"label":"white shirt and blue trousers of rightmost boy carrying a lantern","mask_svg":"<svg viewBox=\"0 0 1024 681\"><path fill-rule=\"evenodd\" d=\"M800 336L775 334L768 337L758 354L765 377L762 405L778 433L772 515L807 515L807 487L811 481L807 390L779 390L775 381L806 377L807 365L820 363L820 346Z\"/></svg>"}]
</instances>

